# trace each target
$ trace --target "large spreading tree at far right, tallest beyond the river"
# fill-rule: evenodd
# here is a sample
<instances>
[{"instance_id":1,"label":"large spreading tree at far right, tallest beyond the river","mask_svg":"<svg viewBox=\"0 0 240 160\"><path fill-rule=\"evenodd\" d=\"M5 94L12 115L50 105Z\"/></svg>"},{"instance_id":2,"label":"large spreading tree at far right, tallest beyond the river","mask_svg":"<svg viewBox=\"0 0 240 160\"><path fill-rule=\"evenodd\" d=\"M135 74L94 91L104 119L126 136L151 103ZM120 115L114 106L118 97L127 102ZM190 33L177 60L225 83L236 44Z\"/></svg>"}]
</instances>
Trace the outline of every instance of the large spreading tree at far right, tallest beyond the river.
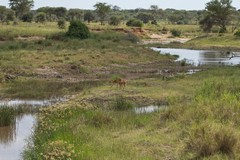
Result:
<instances>
[{"instance_id":1,"label":"large spreading tree at far right, tallest beyond the river","mask_svg":"<svg viewBox=\"0 0 240 160\"><path fill-rule=\"evenodd\" d=\"M211 30L215 25L220 27L219 32L226 32L226 26L231 20L234 8L232 7L232 0L212 0L206 4L206 14L200 21L203 29Z\"/></svg>"}]
</instances>

